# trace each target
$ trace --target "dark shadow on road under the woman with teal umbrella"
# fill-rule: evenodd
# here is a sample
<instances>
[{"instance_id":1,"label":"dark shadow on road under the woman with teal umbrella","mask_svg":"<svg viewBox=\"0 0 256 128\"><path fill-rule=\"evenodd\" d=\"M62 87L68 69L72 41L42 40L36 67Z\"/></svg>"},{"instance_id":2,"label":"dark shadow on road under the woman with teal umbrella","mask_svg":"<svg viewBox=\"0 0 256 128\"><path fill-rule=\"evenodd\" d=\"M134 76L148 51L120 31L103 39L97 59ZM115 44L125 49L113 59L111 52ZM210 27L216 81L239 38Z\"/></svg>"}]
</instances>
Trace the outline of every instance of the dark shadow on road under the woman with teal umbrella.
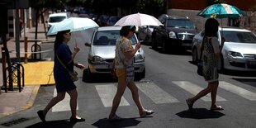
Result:
<instances>
[{"instance_id":1,"label":"dark shadow on road under the woman with teal umbrella","mask_svg":"<svg viewBox=\"0 0 256 128\"><path fill-rule=\"evenodd\" d=\"M181 111L176 113L177 116L182 118L192 118L192 119L208 119L208 118L220 118L225 116L225 114L220 111L209 111L206 108L194 108L193 111Z\"/></svg>"}]
</instances>

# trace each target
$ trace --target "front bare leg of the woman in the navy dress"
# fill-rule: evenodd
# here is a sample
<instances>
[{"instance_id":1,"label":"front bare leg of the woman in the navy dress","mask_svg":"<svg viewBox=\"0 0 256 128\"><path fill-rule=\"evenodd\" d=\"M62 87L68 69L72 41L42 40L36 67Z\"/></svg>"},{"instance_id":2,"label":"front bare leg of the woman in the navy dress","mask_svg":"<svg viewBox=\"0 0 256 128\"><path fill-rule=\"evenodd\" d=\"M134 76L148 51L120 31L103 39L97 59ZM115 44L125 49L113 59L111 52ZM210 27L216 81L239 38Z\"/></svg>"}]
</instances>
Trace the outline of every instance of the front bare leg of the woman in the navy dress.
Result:
<instances>
[{"instance_id":1,"label":"front bare leg of the woman in the navy dress","mask_svg":"<svg viewBox=\"0 0 256 128\"><path fill-rule=\"evenodd\" d=\"M70 108L71 108L71 117L73 118L80 118L77 116L77 99L78 99L78 92L77 89L73 89L68 92L70 96Z\"/></svg>"}]
</instances>

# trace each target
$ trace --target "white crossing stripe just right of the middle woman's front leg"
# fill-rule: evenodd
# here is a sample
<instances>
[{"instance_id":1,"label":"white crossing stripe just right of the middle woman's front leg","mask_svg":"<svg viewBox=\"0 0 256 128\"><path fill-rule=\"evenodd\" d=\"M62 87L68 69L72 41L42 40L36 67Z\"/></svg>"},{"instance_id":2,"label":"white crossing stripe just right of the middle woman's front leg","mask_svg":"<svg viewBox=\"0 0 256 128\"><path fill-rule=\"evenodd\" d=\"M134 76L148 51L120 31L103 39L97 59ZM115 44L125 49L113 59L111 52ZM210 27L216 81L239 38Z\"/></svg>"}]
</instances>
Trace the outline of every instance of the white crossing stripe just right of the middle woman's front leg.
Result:
<instances>
[{"instance_id":1,"label":"white crossing stripe just right of the middle woman's front leg","mask_svg":"<svg viewBox=\"0 0 256 128\"><path fill-rule=\"evenodd\" d=\"M172 97L167 92L154 83L136 83L141 92L144 92L154 103L179 102L178 99Z\"/></svg>"}]
</instances>

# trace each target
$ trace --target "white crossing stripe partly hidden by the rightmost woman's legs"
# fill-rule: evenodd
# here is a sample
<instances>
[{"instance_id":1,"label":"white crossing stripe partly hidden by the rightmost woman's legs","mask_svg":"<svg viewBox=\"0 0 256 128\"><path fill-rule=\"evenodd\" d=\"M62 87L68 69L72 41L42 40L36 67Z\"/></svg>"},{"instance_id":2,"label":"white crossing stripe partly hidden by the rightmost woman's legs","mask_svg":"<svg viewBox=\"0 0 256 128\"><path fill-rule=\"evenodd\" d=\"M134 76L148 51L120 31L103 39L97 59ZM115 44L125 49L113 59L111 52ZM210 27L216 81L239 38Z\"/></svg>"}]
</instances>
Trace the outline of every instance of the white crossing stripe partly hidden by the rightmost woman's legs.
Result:
<instances>
[{"instance_id":1,"label":"white crossing stripe partly hidden by the rightmost woman's legs","mask_svg":"<svg viewBox=\"0 0 256 128\"><path fill-rule=\"evenodd\" d=\"M200 92L203 88L197 86L196 84L186 82L186 81L173 81L174 84L178 85L178 87L183 88L187 92L192 93L193 95L197 95L198 92ZM201 97L201 100L205 102L211 101L211 95L210 93L207 94L205 97ZM226 101L225 98L219 97L217 95L217 101Z\"/></svg>"}]
</instances>

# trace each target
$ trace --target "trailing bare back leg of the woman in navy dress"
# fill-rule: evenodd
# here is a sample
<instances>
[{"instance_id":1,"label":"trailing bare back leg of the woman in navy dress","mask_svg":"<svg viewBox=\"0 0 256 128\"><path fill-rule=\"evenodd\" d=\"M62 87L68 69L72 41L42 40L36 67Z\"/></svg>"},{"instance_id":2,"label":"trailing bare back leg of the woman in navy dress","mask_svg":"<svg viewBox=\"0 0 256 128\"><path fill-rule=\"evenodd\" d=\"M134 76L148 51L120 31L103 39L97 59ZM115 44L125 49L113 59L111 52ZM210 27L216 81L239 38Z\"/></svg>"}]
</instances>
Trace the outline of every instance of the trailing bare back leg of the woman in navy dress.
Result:
<instances>
[{"instance_id":1,"label":"trailing bare back leg of the woman in navy dress","mask_svg":"<svg viewBox=\"0 0 256 128\"><path fill-rule=\"evenodd\" d=\"M50 110L51 107L54 107L55 104L62 101L65 97L66 92L58 92L56 97L53 97L48 105L43 110L44 116L46 116L47 112Z\"/></svg>"}]
</instances>

